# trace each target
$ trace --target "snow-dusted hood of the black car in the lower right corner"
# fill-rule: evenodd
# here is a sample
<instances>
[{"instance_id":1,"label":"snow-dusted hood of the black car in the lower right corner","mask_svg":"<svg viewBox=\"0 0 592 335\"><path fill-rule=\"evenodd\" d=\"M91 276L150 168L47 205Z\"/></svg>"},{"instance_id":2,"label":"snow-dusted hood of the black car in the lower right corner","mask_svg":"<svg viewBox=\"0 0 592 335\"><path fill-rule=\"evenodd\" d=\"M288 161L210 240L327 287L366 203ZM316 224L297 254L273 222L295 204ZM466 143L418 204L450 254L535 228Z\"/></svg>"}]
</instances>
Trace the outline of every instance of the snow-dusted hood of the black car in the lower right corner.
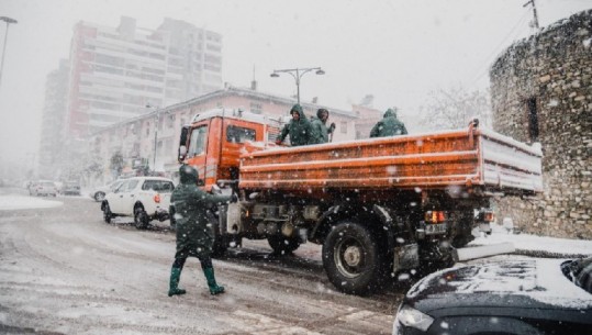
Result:
<instances>
[{"instance_id":1,"label":"snow-dusted hood of the black car in the lower right corner","mask_svg":"<svg viewBox=\"0 0 592 335\"><path fill-rule=\"evenodd\" d=\"M503 259L434 272L410 289L405 302L425 313L439 309L513 308L592 311L592 294L563 276L560 259Z\"/></svg>"}]
</instances>

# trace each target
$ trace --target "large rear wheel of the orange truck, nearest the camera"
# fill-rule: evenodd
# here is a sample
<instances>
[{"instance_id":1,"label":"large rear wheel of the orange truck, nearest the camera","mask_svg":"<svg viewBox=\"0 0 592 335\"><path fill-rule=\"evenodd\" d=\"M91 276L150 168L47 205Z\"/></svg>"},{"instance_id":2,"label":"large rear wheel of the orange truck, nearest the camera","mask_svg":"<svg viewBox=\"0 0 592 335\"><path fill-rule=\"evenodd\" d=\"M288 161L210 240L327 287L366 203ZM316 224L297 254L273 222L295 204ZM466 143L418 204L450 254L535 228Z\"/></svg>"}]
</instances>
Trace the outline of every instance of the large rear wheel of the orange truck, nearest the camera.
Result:
<instances>
[{"instance_id":1,"label":"large rear wheel of the orange truck, nearest the camera","mask_svg":"<svg viewBox=\"0 0 592 335\"><path fill-rule=\"evenodd\" d=\"M342 221L323 244L323 266L339 291L367 294L382 287L387 272L378 236L359 223Z\"/></svg>"}]
</instances>

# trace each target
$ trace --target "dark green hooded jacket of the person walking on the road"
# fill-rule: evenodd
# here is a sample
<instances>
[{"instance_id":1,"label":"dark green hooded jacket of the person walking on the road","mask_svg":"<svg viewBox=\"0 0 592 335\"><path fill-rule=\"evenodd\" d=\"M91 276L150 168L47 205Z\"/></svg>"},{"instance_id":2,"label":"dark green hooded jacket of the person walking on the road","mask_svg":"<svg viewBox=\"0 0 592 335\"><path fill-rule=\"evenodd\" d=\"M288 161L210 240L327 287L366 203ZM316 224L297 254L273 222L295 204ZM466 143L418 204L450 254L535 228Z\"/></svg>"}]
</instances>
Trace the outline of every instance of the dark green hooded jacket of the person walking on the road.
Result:
<instances>
[{"instance_id":1,"label":"dark green hooded jacket of the person walking on the road","mask_svg":"<svg viewBox=\"0 0 592 335\"><path fill-rule=\"evenodd\" d=\"M213 196L198 188L198 170L191 166L181 166L179 175L180 183L170 198L177 225L175 257L209 256L214 243L214 231L208 220L208 211L217 203L230 201L231 197Z\"/></svg>"}]
</instances>

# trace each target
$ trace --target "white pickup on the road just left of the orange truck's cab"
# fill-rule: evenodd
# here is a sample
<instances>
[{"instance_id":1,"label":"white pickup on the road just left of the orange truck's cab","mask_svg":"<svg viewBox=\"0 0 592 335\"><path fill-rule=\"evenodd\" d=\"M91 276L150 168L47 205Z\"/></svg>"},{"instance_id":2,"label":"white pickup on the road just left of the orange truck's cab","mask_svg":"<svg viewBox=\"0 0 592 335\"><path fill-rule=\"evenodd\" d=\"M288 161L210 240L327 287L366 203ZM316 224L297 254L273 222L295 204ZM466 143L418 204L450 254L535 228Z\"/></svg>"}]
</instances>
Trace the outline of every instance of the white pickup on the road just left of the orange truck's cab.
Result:
<instances>
[{"instance_id":1,"label":"white pickup on the road just left of the orange truck's cab","mask_svg":"<svg viewBox=\"0 0 592 335\"><path fill-rule=\"evenodd\" d=\"M169 219L172 180L161 177L134 177L125 179L113 192L107 193L101 203L104 222L115 216L133 216L136 228L148 226L153 220Z\"/></svg>"}]
</instances>

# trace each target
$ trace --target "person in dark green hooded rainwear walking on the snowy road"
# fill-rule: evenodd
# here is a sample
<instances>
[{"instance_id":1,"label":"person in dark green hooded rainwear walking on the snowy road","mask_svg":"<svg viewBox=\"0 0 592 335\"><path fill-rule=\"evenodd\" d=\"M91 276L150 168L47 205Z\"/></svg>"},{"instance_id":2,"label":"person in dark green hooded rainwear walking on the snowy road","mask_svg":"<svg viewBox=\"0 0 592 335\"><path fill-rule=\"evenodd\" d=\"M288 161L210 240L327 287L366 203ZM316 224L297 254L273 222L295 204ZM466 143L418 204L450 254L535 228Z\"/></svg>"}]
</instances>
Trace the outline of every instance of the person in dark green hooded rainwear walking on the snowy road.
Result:
<instances>
[{"instance_id":1,"label":"person in dark green hooded rainwear walking on the snowy road","mask_svg":"<svg viewBox=\"0 0 592 335\"><path fill-rule=\"evenodd\" d=\"M174 208L171 220L177 227L177 253L170 269L168 297L185 294L179 288L183 265L188 257L197 257L205 275L210 293L215 295L224 292L224 287L216 283L212 265L212 247L214 231L208 220L208 211L217 203L227 202L231 196L213 196L198 188L198 170L182 165L179 169L180 183L172 191L170 203ZM235 198L234 198L235 199Z\"/></svg>"}]
</instances>

